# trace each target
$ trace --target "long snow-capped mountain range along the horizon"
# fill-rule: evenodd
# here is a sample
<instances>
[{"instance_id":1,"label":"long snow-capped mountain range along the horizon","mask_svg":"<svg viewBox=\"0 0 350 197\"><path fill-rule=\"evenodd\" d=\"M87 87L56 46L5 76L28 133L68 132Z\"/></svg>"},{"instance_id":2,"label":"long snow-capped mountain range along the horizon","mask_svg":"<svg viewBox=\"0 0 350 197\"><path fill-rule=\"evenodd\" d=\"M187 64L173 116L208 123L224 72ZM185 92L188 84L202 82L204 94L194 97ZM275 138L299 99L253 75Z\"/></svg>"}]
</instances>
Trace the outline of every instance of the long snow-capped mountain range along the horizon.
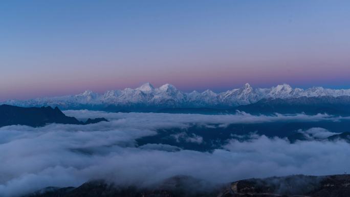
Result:
<instances>
[{"instance_id":1,"label":"long snow-capped mountain range along the horizon","mask_svg":"<svg viewBox=\"0 0 350 197\"><path fill-rule=\"evenodd\" d=\"M17 106L58 106L62 109L103 109L107 106L123 107L229 107L255 103L264 98L299 98L320 96L350 96L349 90L333 90L312 87L307 90L292 88L288 84L277 85L268 89L253 88L248 83L239 89L222 93L206 90L202 93L193 91L184 93L171 84L154 87L145 83L136 89L107 91L97 94L85 91L78 95L37 98L30 100L9 100L2 104Z\"/></svg>"}]
</instances>

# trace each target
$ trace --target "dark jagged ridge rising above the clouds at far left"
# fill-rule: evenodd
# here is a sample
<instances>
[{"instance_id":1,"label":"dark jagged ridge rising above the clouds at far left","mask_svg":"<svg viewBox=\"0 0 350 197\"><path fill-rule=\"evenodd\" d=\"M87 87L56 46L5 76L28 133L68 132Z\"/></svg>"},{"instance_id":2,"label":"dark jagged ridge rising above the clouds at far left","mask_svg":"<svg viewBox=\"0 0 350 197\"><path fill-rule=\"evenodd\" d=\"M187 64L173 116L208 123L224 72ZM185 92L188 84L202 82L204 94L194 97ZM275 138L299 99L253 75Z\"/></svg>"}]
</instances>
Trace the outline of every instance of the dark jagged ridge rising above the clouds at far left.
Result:
<instances>
[{"instance_id":1,"label":"dark jagged ridge rising above the clouds at far left","mask_svg":"<svg viewBox=\"0 0 350 197\"><path fill-rule=\"evenodd\" d=\"M90 124L107 121L104 118L80 122L74 117L65 116L58 107L18 107L0 105L0 127L8 125L45 126L49 123Z\"/></svg>"}]
</instances>

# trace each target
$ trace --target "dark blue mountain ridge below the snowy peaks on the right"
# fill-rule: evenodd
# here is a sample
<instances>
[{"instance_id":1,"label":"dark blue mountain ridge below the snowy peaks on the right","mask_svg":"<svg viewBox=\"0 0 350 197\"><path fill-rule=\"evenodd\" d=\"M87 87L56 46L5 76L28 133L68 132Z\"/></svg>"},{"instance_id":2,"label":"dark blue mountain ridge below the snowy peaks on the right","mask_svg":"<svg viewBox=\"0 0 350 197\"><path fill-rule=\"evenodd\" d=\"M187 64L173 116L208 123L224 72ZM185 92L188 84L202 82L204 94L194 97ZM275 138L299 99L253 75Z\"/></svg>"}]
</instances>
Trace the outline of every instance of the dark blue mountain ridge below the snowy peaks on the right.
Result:
<instances>
[{"instance_id":1,"label":"dark blue mountain ridge below the snowy peaks on the right","mask_svg":"<svg viewBox=\"0 0 350 197\"><path fill-rule=\"evenodd\" d=\"M321 96L321 97L299 97L299 98L276 98L261 99L256 103L239 105L232 108L163 108L159 113L171 114L235 114L237 111L252 115L278 114L332 114L339 116L350 115L349 96Z\"/></svg>"}]
</instances>

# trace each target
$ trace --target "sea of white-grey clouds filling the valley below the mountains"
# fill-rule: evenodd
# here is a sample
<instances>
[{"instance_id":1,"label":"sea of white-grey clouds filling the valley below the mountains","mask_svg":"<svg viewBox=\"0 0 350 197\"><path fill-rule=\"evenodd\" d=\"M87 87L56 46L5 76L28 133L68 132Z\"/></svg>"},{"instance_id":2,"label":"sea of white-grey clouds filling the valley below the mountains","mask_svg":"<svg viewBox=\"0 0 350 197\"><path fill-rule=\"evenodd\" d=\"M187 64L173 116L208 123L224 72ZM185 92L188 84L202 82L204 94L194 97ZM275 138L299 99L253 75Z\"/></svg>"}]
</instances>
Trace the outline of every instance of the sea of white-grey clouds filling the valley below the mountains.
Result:
<instances>
[{"instance_id":1,"label":"sea of white-grey clouds filling the valley below the mountains","mask_svg":"<svg viewBox=\"0 0 350 197\"><path fill-rule=\"evenodd\" d=\"M247 178L290 174L336 174L348 169L350 144L345 141L299 141L252 136L230 140L212 152L184 150L167 144L137 146L136 139L156 135L158 129L190 125L227 126L231 123L275 121L341 121L326 114L189 115L64 111L79 120L104 117L109 122L90 125L50 124L44 127L0 128L0 196L20 196L48 186L79 186L93 179L119 185L150 186L185 175L213 184ZM281 132L283 132L281 130ZM323 128L299 130L304 135L333 134ZM201 136L180 133L188 143Z\"/></svg>"}]
</instances>

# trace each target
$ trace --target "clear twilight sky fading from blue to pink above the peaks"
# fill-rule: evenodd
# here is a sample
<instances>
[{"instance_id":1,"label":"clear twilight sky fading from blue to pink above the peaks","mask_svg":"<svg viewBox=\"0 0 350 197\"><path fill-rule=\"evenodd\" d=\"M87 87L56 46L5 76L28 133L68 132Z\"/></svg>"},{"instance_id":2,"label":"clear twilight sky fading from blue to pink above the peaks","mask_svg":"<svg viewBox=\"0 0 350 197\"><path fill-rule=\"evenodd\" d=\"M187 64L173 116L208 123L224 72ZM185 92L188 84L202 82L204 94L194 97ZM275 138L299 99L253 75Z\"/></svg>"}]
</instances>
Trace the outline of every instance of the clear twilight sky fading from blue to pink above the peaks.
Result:
<instances>
[{"instance_id":1,"label":"clear twilight sky fading from blue to pink above the peaks","mask_svg":"<svg viewBox=\"0 0 350 197\"><path fill-rule=\"evenodd\" d=\"M350 88L350 1L0 3L0 100L155 86Z\"/></svg>"}]
</instances>

